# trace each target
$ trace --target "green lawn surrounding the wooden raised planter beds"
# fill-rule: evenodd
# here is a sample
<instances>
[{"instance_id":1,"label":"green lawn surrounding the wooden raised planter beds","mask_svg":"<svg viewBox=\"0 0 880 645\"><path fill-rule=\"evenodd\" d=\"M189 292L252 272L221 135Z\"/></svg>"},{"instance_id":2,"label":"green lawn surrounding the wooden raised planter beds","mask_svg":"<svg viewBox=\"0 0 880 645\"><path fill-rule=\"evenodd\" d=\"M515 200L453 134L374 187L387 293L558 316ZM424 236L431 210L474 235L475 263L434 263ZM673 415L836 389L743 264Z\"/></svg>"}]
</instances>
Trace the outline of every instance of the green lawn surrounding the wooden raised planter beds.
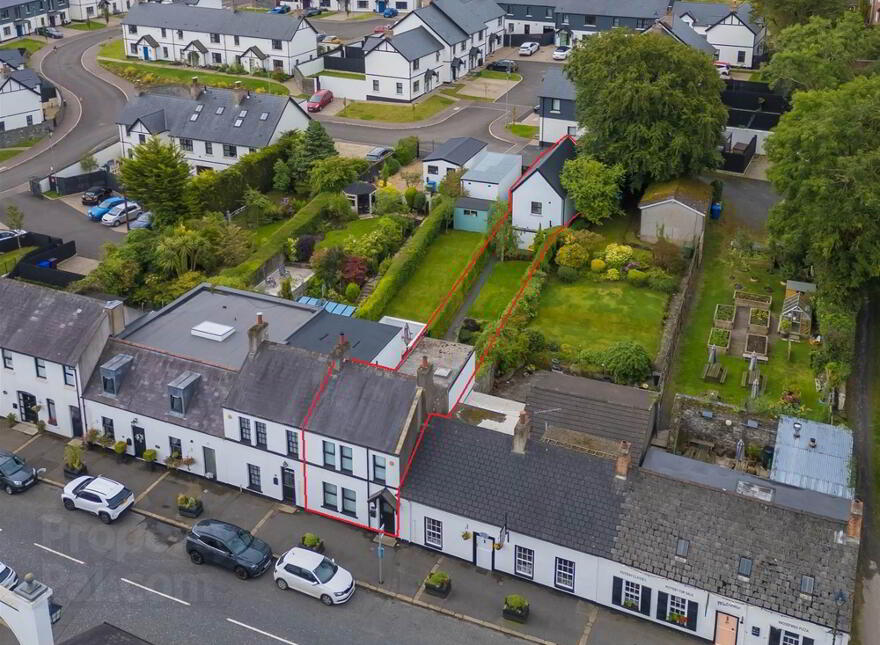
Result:
<instances>
[{"instance_id":1,"label":"green lawn surrounding the wooden raised planter beds","mask_svg":"<svg viewBox=\"0 0 880 645\"><path fill-rule=\"evenodd\" d=\"M748 392L740 386L740 378L748 364L742 357L719 356L721 363L727 367L727 380L724 384L708 383L702 379L715 305L733 304L736 283L758 293L767 293L769 288L773 296L771 328L775 328L784 293L780 281L784 277L772 271L769 261L753 262L748 272L743 271L739 264L734 266L729 262L727 254L734 232L734 225L729 220L724 224L709 222L703 251L703 274L697 285L691 315L682 330L672 379L676 392L700 396L711 390L718 392L720 399L726 403L744 405L748 400ZM771 336L769 359L766 364L761 365L761 370L767 377L766 400L776 402L783 388L791 388L800 392L801 402L809 409L807 416L823 419L825 408L818 404L810 370L810 346L806 342L792 343L789 360L788 343Z\"/></svg>"}]
</instances>

